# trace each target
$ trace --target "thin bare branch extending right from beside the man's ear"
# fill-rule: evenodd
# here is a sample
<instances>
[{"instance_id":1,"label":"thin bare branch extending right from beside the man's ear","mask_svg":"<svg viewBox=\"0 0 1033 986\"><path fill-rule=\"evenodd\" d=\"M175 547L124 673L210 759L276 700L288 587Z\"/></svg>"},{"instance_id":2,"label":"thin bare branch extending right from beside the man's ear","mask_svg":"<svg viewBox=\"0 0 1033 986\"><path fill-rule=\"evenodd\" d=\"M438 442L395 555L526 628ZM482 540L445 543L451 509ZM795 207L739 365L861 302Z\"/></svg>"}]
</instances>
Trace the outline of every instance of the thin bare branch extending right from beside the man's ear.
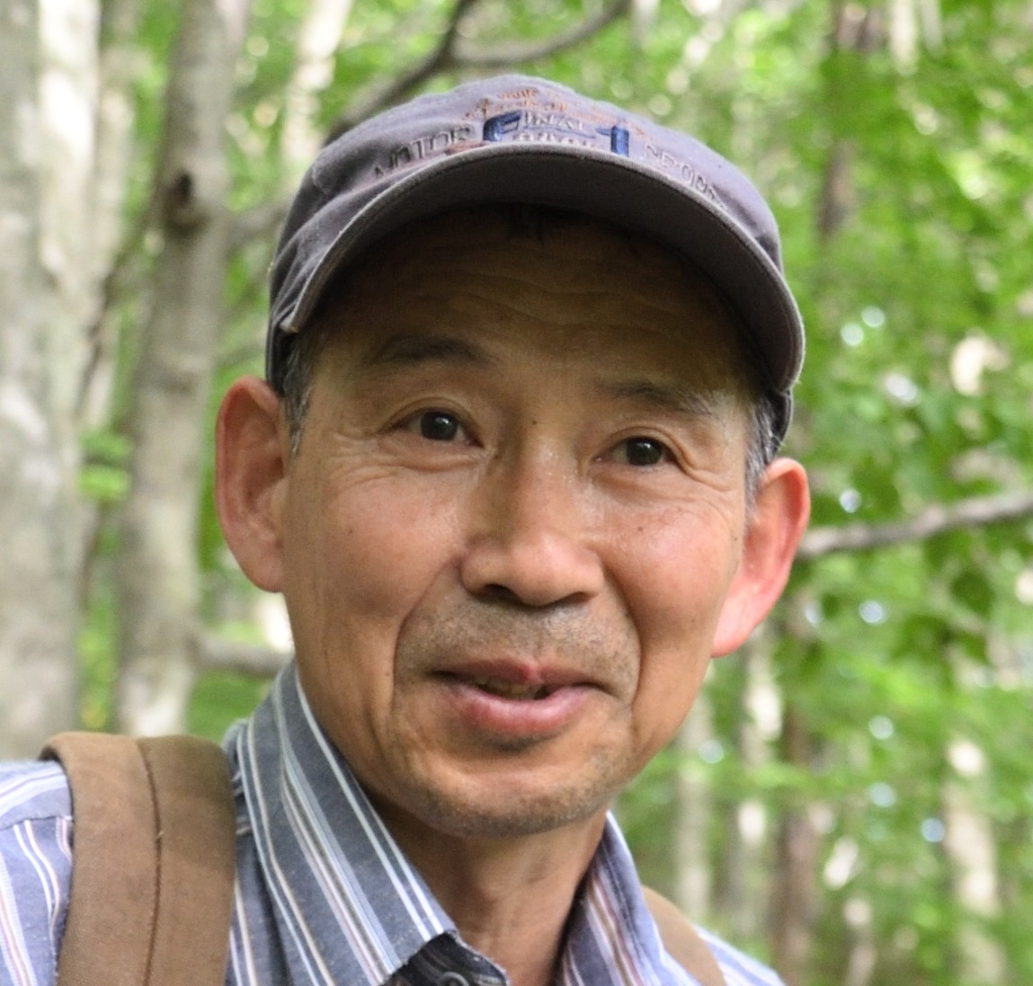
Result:
<instances>
[{"instance_id":1,"label":"thin bare branch extending right from beside the man's ear","mask_svg":"<svg viewBox=\"0 0 1033 986\"><path fill-rule=\"evenodd\" d=\"M946 531L1030 516L1033 516L1033 492L973 497L958 503L927 507L909 520L814 528L804 536L796 558L809 561L834 551L868 551L926 540Z\"/></svg>"}]
</instances>

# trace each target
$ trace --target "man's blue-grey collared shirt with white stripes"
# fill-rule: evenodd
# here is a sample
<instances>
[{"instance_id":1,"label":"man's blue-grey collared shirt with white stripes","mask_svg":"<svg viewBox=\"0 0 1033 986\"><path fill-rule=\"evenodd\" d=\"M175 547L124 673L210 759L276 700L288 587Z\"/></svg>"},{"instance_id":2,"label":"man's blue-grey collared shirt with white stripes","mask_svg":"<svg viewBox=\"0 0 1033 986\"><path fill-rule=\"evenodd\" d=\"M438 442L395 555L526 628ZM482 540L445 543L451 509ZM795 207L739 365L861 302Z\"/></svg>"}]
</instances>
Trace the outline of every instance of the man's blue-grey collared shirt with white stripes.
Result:
<instances>
[{"instance_id":1,"label":"man's blue-grey collared shirt with white stripes","mask_svg":"<svg viewBox=\"0 0 1033 986\"><path fill-rule=\"evenodd\" d=\"M293 668L225 742L237 798L227 986L503 986L469 948L316 724ZM51 986L71 873L53 763L0 767L0 986ZM774 973L707 935L728 986ZM576 897L559 986L697 986L663 951L611 818Z\"/></svg>"}]
</instances>

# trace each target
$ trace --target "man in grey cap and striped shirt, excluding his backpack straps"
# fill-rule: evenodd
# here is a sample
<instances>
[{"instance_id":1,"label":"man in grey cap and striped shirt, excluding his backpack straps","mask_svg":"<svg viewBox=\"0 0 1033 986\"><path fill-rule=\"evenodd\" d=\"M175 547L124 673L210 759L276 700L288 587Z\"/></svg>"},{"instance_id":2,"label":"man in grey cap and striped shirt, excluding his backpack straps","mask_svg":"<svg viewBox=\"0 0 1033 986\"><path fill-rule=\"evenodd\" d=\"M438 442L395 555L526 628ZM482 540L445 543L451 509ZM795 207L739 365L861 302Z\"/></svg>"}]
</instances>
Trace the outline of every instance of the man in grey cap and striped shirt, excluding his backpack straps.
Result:
<instances>
[{"instance_id":1,"label":"man in grey cap and striped shirt, excluding his backpack straps","mask_svg":"<svg viewBox=\"0 0 1033 986\"><path fill-rule=\"evenodd\" d=\"M323 151L218 424L296 649L226 741L227 982L696 982L607 808L784 586L802 353L770 212L689 137L505 76ZM51 982L73 820L18 777L2 981Z\"/></svg>"}]
</instances>

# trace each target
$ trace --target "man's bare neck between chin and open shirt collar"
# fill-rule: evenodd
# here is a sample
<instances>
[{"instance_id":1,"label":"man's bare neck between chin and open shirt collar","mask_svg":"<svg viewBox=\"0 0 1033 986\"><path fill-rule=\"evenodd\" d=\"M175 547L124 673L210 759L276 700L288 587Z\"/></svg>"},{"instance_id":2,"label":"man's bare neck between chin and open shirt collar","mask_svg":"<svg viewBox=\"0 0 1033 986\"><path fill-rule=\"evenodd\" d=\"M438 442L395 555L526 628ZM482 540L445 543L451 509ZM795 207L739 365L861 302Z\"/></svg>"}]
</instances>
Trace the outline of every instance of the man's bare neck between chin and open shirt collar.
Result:
<instances>
[{"instance_id":1,"label":"man's bare neck between chin and open shirt collar","mask_svg":"<svg viewBox=\"0 0 1033 986\"><path fill-rule=\"evenodd\" d=\"M604 822L599 813L550 832L491 839L389 827L467 945L513 986L551 986Z\"/></svg>"}]
</instances>

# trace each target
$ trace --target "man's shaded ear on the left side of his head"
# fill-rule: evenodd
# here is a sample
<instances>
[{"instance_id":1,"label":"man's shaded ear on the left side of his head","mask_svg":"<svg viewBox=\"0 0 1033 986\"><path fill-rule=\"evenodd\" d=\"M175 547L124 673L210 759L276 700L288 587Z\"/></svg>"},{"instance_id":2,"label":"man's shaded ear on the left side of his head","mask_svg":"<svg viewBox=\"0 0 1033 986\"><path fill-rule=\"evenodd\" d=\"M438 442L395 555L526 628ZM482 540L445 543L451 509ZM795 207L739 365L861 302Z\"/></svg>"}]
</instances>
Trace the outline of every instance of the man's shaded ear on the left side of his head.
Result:
<instances>
[{"instance_id":1,"label":"man's shaded ear on the left side of his head","mask_svg":"<svg viewBox=\"0 0 1033 986\"><path fill-rule=\"evenodd\" d=\"M219 408L215 505L222 533L244 574L280 591L283 502L290 442L280 400L263 380L236 381Z\"/></svg>"}]
</instances>

